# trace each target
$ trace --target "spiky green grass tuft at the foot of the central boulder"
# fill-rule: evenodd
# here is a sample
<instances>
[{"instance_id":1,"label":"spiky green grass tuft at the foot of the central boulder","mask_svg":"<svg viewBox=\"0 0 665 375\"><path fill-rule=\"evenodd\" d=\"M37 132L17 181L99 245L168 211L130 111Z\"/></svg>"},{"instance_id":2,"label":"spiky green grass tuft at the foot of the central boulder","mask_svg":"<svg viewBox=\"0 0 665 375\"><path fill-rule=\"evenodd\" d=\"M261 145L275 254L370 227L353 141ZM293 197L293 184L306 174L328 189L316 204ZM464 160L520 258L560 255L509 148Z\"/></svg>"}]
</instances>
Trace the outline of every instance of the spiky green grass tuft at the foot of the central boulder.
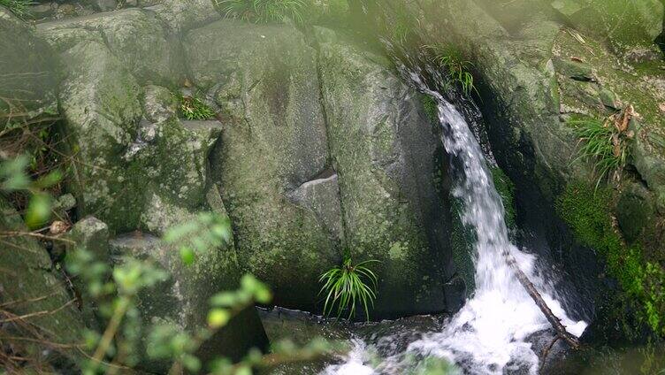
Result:
<instances>
[{"instance_id":1,"label":"spiky green grass tuft at the foot of the central boulder","mask_svg":"<svg viewBox=\"0 0 665 375\"><path fill-rule=\"evenodd\" d=\"M367 267L368 264L378 263L377 260L368 260L353 264L350 256L345 256L341 266L321 275L319 282L324 283L319 294L325 293L324 315L330 316L337 310L339 319L345 310L348 318L355 316L355 309L361 305L365 318L370 320L370 306L374 307L377 298L377 275Z\"/></svg>"}]
</instances>

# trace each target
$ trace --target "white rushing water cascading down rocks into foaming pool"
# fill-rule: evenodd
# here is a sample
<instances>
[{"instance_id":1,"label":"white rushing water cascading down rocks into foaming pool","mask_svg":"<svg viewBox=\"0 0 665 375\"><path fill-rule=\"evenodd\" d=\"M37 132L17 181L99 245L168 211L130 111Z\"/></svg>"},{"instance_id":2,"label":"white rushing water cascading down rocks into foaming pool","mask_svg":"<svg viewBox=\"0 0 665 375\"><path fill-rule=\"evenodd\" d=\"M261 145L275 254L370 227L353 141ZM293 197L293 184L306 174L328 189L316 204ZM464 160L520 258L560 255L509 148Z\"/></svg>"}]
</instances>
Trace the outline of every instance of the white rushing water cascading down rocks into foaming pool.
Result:
<instances>
[{"instance_id":1,"label":"white rushing water cascading down rocks into foaming pool","mask_svg":"<svg viewBox=\"0 0 665 375\"><path fill-rule=\"evenodd\" d=\"M516 279L501 255L504 250L515 257L519 268L538 288L547 306L562 320L569 333L578 337L587 324L569 318L562 303L557 301L553 284L537 272L536 256L517 249L509 241L501 198L494 188L483 151L462 114L438 92L428 88L419 74L405 70L405 75L438 103L443 127L441 141L461 170L453 195L462 200L462 222L476 232L476 290L442 331L425 333L410 342L404 352L370 366L363 363L363 353L367 353L365 343L356 341L346 363L329 366L325 373L404 373L401 364L405 357L438 356L472 374L535 374L539 370L539 356L530 339L534 333L547 333L551 325ZM547 333L547 337L550 340L554 335Z\"/></svg>"}]
</instances>

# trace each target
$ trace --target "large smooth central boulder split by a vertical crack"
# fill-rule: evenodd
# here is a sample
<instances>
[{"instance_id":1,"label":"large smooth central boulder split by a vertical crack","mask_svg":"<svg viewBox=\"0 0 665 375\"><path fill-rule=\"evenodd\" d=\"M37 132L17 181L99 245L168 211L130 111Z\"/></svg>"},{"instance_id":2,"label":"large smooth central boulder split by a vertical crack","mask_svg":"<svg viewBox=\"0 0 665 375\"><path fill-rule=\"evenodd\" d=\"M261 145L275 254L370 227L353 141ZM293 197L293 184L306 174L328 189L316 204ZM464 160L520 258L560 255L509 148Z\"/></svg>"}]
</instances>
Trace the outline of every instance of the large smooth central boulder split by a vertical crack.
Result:
<instances>
[{"instance_id":1,"label":"large smooth central boulder split by a vertical crack","mask_svg":"<svg viewBox=\"0 0 665 375\"><path fill-rule=\"evenodd\" d=\"M375 318L443 310L436 131L386 60L319 34L312 46L293 27L222 20L184 40L225 119L210 162L240 263L278 304L319 310L317 279L348 249L381 261Z\"/></svg>"}]
</instances>

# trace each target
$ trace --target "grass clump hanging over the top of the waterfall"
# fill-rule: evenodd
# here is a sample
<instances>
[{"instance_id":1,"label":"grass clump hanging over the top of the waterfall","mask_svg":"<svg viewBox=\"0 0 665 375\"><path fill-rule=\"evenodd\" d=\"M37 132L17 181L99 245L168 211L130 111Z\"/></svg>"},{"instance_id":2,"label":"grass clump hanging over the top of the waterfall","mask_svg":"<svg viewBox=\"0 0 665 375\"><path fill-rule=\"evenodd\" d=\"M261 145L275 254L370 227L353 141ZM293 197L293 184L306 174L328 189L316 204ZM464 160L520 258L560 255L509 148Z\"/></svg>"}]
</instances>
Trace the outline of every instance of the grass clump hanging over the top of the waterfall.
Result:
<instances>
[{"instance_id":1,"label":"grass clump hanging over the top of the waterfall","mask_svg":"<svg viewBox=\"0 0 665 375\"><path fill-rule=\"evenodd\" d=\"M469 96L472 91L478 92L473 83L473 74L470 73L473 64L464 58L462 51L452 45L425 46L432 51L432 61L446 71L447 78L457 85L464 95Z\"/></svg>"}]
</instances>

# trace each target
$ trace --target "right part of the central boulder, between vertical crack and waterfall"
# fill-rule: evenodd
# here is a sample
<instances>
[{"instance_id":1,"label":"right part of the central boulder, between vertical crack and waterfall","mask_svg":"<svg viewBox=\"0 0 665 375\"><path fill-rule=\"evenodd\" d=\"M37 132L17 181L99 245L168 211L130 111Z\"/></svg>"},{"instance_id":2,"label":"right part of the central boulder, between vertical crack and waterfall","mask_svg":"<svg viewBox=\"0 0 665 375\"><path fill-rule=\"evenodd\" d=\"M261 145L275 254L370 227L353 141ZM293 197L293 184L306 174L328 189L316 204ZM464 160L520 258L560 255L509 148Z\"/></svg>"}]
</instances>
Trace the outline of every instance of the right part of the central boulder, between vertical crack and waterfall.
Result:
<instances>
[{"instance_id":1,"label":"right part of the central boulder, between vertical crack and waterfall","mask_svg":"<svg viewBox=\"0 0 665 375\"><path fill-rule=\"evenodd\" d=\"M444 294L452 272L447 210L435 183L445 165L438 127L385 57L328 29L316 34L346 244L356 262L380 261L372 265L379 275L374 316L443 310L453 296Z\"/></svg>"}]
</instances>

